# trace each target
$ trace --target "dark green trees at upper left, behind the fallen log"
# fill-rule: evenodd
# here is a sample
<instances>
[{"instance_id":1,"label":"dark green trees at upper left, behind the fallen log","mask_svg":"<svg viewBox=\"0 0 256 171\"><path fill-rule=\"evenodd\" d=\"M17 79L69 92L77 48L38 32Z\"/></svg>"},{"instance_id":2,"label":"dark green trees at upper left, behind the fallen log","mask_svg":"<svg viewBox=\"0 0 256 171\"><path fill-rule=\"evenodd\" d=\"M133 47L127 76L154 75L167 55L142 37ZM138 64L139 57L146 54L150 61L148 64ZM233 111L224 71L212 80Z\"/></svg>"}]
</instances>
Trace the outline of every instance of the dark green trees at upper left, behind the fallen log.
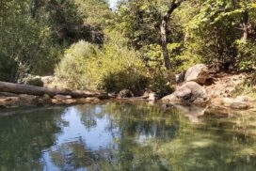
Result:
<instances>
[{"instance_id":1,"label":"dark green trees at upper left, behind the fallen log","mask_svg":"<svg viewBox=\"0 0 256 171\"><path fill-rule=\"evenodd\" d=\"M1 1L0 79L15 82L26 73L51 74L73 42L101 44L102 28L84 23L77 8L72 0Z\"/></svg>"}]
</instances>

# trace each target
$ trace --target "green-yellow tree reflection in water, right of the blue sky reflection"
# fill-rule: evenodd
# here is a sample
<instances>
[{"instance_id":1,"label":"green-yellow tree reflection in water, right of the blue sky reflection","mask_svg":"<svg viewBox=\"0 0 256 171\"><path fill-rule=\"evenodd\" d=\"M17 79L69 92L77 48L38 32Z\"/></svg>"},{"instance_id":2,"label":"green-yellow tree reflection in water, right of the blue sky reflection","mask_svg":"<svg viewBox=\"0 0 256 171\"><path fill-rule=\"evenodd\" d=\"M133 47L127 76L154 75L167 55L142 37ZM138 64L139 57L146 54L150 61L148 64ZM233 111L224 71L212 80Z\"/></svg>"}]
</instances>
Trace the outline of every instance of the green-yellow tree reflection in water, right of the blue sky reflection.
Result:
<instances>
[{"instance_id":1,"label":"green-yellow tree reflection in water, right of the blue sky reflection","mask_svg":"<svg viewBox=\"0 0 256 171\"><path fill-rule=\"evenodd\" d=\"M109 125L119 128L120 137L119 148L96 161L103 170L256 168L255 115L205 117L200 124L192 124L175 110L163 113L158 106L134 102L107 103L97 117L105 114L109 114Z\"/></svg>"}]
</instances>

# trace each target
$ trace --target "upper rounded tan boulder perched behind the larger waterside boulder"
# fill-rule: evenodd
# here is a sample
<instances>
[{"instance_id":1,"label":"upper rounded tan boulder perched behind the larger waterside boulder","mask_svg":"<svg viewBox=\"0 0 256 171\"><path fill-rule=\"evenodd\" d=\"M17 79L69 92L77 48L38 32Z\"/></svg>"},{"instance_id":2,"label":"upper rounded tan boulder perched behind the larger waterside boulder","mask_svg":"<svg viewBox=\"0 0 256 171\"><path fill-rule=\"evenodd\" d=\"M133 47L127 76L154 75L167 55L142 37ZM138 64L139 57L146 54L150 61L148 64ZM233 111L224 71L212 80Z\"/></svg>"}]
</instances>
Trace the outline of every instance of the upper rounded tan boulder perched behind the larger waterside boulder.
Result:
<instances>
[{"instance_id":1,"label":"upper rounded tan boulder perched behind the larger waterside boulder","mask_svg":"<svg viewBox=\"0 0 256 171\"><path fill-rule=\"evenodd\" d=\"M197 64L188 70L184 75L184 81L194 81L200 85L205 84L206 79L209 77L209 69L204 64Z\"/></svg>"}]
</instances>

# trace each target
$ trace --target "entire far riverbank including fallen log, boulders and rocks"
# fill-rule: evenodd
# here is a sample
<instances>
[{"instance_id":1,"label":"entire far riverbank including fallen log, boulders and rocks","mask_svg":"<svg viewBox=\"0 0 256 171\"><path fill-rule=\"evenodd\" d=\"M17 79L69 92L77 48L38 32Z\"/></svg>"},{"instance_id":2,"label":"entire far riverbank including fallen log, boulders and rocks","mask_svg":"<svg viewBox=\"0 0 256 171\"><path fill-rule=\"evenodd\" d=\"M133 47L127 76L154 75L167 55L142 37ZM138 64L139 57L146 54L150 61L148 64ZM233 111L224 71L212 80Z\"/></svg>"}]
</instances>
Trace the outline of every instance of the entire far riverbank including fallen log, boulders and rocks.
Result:
<instances>
[{"instance_id":1,"label":"entire far riverbank including fallen log, boulders and rocks","mask_svg":"<svg viewBox=\"0 0 256 171\"><path fill-rule=\"evenodd\" d=\"M207 109L208 113L226 114L232 110L255 112L255 99L248 96L248 91L248 94L245 93L246 91L241 91L243 83L252 79L251 74L214 72L208 69L207 66L198 64L186 70L183 74L177 75L176 85L174 85L175 91L159 100L152 91L146 91L141 97L134 97L133 92L129 89L123 89L117 94L72 91L65 88L65 84L58 83L56 77L42 77L41 81L44 87L3 82L5 86L0 87L0 107L72 105L118 99L151 102L159 100L163 103L163 106L180 105L189 107L195 105L201 107L202 111ZM237 90L239 87L240 90ZM30 92L30 89L33 91Z\"/></svg>"}]
</instances>

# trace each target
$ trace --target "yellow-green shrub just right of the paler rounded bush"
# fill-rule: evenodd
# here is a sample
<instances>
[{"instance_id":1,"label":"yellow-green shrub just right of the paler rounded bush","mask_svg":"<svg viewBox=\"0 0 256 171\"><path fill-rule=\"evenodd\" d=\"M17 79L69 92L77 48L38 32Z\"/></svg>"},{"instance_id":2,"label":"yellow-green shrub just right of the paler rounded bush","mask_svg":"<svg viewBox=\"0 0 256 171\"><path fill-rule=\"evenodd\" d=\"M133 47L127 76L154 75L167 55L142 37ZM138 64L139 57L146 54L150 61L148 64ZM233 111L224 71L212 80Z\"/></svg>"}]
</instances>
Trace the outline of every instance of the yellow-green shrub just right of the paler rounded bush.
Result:
<instances>
[{"instance_id":1,"label":"yellow-green shrub just right of the paler rounded bush","mask_svg":"<svg viewBox=\"0 0 256 171\"><path fill-rule=\"evenodd\" d=\"M118 92L130 89L134 93L142 91L147 85L147 72L142 60L134 50L130 50L120 39L110 39L103 52L88 63L88 89L104 89Z\"/></svg>"}]
</instances>

